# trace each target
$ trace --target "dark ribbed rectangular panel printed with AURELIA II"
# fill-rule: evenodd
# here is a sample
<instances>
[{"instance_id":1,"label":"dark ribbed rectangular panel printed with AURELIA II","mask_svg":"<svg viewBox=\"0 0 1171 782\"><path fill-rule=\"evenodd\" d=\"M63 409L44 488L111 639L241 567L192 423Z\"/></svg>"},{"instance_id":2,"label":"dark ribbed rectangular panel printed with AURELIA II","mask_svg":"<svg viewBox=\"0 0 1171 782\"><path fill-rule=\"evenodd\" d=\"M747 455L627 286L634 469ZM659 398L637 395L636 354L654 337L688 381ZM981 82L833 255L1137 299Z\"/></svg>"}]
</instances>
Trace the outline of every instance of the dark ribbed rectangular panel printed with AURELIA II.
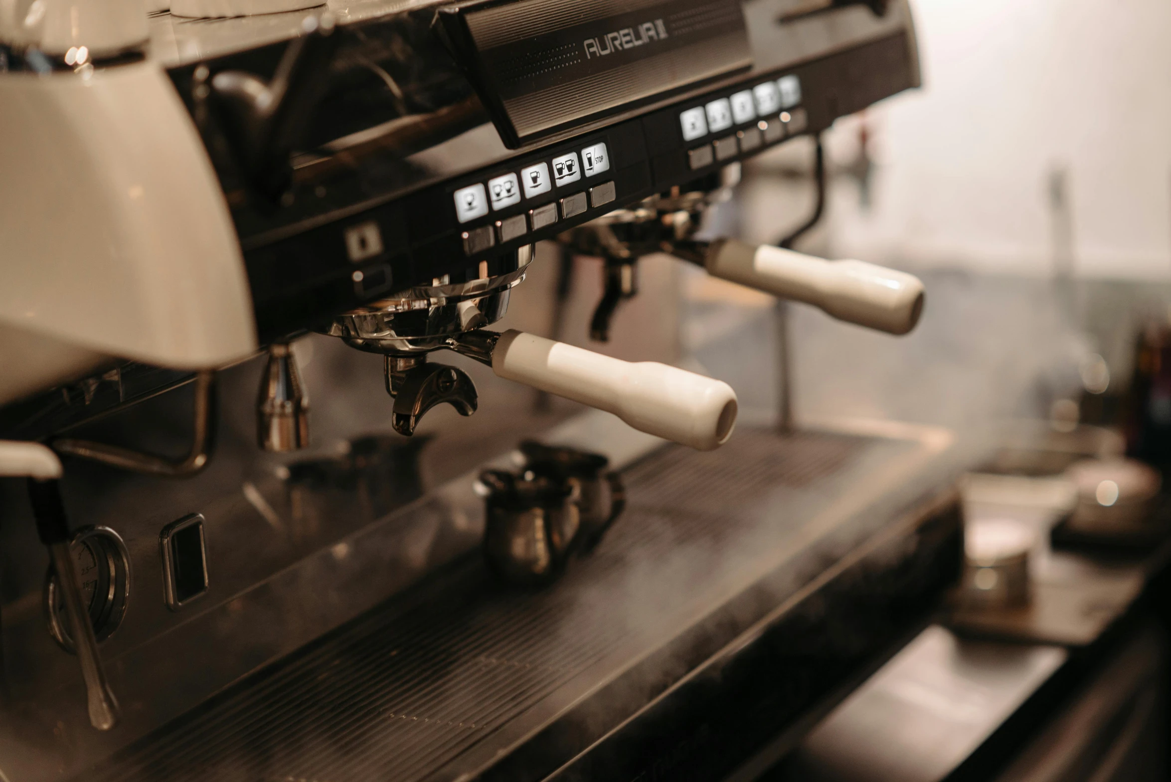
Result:
<instances>
[{"instance_id":1,"label":"dark ribbed rectangular panel printed with AURELIA II","mask_svg":"<svg viewBox=\"0 0 1171 782\"><path fill-rule=\"evenodd\" d=\"M505 143L752 66L740 0L520 0L443 14Z\"/></svg>"}]
</instances>

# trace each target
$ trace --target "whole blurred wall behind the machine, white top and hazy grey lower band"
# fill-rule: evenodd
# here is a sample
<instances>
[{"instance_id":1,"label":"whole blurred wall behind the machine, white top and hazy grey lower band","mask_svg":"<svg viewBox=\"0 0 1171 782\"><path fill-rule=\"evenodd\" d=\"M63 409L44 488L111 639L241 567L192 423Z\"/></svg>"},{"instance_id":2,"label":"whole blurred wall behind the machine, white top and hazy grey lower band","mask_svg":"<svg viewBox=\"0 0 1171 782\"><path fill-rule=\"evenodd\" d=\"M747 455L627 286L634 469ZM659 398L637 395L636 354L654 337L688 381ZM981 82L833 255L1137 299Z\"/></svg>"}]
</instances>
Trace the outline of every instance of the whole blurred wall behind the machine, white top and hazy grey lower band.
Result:
<instances>
[{"instance_id":1,"label":"whole blurred wall behind the machine, white top and hazy grey lower band","mask_svg":"<svg viewBox=\"0 0 1171 782\"><path fill-rule=\"evenodd\" d=\"M924 87L827 131L828 206L797 248L917 273L926 310L890 337L790 307L794 410L1122 425L1137 335L1171 324L1171 1L911 1ZM752 160L713 233L801 224L813 149ZM771 299L683 274L706 369L775 354ZM746 410L773 412L774 377L737 378Z\"/></svg>"}]
</instances>

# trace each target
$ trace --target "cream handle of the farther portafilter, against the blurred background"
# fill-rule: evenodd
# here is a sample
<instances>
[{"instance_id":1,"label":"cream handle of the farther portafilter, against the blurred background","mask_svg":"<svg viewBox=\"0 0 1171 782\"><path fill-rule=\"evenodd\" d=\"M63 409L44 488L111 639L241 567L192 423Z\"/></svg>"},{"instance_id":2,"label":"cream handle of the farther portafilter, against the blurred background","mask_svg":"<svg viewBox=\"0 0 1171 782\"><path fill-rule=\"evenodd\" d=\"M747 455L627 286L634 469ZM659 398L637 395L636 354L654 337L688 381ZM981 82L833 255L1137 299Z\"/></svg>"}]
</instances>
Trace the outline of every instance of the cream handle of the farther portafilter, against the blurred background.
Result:
<instances>
[{"instance_id":1,"label":"cream handle of the farther portafilter, against the blurred background","mask_svg":"<svg viewBox=\"0 0 1171 782\"><path fill-rule=\"evenodd\" d=\"M820 307L840 321L906 334L923 313L923 283L912 274L865 261L827 261L734 239L713 242L712 276Z\"/></svg>"}]
</instances>

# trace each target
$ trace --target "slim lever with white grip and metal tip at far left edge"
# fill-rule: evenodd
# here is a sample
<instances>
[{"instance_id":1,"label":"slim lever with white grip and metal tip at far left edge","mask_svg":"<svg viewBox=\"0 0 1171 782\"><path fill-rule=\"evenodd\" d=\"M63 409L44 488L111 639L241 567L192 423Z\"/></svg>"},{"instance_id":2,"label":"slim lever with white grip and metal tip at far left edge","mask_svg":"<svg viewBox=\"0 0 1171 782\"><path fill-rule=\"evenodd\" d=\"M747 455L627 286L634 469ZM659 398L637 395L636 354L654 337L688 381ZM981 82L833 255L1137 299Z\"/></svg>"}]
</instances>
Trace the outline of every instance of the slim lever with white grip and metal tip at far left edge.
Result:
<instances>
[{"instance_id":1,"label":"slim lever with white grip and metal tip at far left edge","mask_svg":"<svg viewBox=\"0 0 1171 782\"><path fill-rule=\"evenodd\" d=\"M0 475L28 479L28 498L33 503L36 533L49 549L49 558L66 603L69 632L85 680L89 722L98 730L109 730L118 722L118 701L105 679L94 625L82 601L77 570L69 553L69 522L61 501L62 472L61 460L46 446L0 440Z\"/></svg>"}]
</instances>

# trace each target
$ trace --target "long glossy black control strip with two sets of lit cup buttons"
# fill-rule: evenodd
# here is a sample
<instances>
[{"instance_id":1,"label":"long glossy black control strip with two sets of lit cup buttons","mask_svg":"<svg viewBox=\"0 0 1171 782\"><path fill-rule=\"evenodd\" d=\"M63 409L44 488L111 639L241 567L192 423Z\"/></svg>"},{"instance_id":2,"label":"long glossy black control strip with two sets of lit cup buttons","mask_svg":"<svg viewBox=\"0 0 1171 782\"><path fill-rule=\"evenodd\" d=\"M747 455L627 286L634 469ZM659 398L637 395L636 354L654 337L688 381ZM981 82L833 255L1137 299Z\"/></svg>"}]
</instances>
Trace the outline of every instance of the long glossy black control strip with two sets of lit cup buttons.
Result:
<instances>
[{"instance_id":1,"label":"long glossy black control strip with two sets of lit cup buttons","mask_svg":"<svg viewBox=\"0 0 1171 782\"><path fill-rule=\"evenodd\" d=\"M434 280L515 269L522 245L707 178L913 85L903 33L525 152L245 253L261 338Z\"/></svg>"}]
</instances>

